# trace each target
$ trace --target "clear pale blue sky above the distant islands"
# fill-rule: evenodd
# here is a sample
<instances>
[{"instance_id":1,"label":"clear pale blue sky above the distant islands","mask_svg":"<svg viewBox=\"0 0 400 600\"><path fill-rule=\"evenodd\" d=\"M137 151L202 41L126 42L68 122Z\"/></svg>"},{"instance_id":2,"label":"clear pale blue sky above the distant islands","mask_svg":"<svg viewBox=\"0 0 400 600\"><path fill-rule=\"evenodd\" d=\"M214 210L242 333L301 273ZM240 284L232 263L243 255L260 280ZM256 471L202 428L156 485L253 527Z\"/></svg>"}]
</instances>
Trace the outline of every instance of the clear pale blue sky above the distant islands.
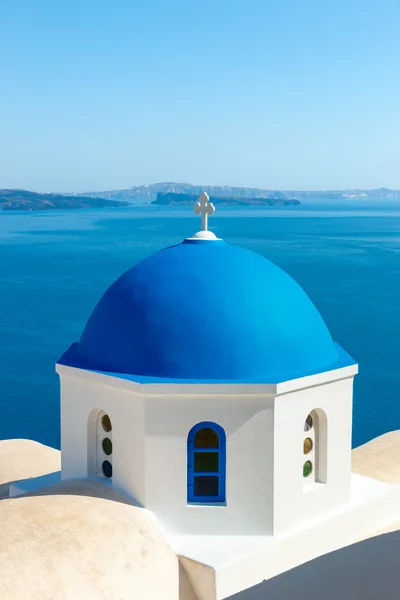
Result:
<instances>
[{"instance_id":1,"label":"clear pale blue sky above the distant islands","mask_svg":"<svg viewBox=\"0 0 400 600\"><path fill-rule=\"evenodd\" d=\"M400 189L399 0L3 0L0 188Z\"/></svg>"}]
</instances>

